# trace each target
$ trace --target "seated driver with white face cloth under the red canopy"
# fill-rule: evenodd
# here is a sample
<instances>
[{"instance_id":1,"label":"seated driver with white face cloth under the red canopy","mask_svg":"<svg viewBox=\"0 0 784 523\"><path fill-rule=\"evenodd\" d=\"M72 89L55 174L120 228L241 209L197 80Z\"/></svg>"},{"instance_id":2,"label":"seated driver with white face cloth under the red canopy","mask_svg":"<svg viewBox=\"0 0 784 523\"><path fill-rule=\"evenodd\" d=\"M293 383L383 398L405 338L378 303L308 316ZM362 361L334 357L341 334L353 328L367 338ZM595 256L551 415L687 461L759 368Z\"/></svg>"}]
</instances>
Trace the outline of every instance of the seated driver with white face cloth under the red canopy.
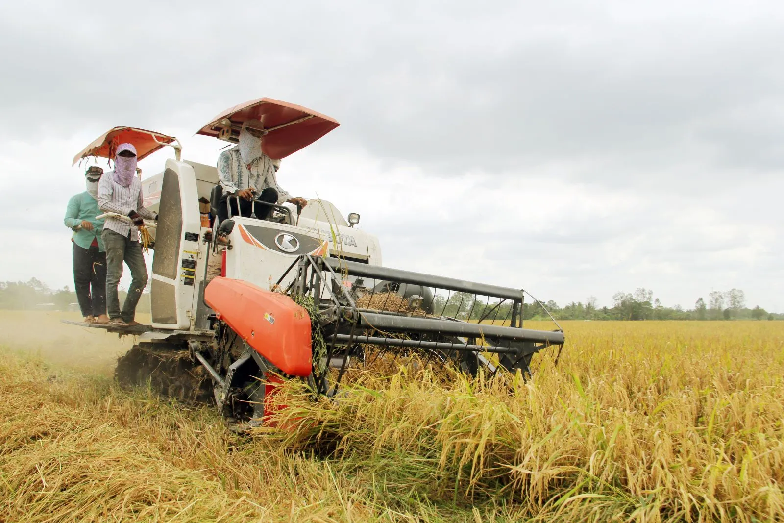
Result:
<instances>
[{"instance_id":1,"label":"seated driver with white face cloth under the red canopy","mask_svg":"<svg viewBox=\"0 0 784 523\"><path fill-rule=\"evenodd\" d=\"M218 157L218 177L223 186L223 197L218 203L218 219L228 220L229 213L226 200L229 196L231 214L250 216L251 212L264 220L270 216L273 208L269 205L258 205L256 202L267 202L280 205L283 202L294 203L304 207L305 198L293 198L285 189L278 185L275 172L281 165L280 160L273 160L261 151L264 126L259 120L249 120L242 124L237 146L223 151Z\"/></svg>"}]
</instances>

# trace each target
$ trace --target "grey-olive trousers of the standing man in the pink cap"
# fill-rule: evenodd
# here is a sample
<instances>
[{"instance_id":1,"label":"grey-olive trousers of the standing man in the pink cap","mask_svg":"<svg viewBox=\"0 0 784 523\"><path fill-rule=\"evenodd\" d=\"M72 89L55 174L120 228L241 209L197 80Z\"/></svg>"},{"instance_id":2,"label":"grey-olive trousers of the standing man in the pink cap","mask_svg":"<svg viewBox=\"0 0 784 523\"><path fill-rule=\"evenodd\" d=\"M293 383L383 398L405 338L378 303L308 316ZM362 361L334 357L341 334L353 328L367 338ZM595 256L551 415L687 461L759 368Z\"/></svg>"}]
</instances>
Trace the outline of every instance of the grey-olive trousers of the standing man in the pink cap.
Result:
<instances>
[{"instance_id":1,"label":"grey-olive trousers of the standing man in the pink cap","mask_svg":"<svg viewBox=\"0 0 784 523\"><path fill-rule=\"evenodd\" d=\"M131 242L127 236L118 234L111 229L103 229L101 234L103 247L106 248L106 306L109 318L122 318L123 321L133 321L136 317L136 304L142 297L142 291L147 285L147 265L144 263L142 244ZM128 296L120 310L120 298L117 285L122 278L122 262L131 271L131 286Z\"/></svg>"}]
</instances>

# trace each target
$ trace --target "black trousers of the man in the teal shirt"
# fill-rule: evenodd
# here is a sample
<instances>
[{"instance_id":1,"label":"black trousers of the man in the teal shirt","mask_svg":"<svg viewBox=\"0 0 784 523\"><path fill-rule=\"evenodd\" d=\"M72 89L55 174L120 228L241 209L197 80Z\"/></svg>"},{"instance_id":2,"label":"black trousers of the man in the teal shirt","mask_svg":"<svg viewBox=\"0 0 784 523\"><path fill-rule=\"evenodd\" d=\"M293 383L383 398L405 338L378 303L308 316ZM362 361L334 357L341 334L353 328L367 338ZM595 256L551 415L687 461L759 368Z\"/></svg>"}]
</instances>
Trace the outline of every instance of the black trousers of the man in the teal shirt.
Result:
<instances>
[{"instance_id":1,"label":"black trousers of the man in the teal shirt","mask_svg":"<svg viewBox=\"0 0 784 523\"><path fill-rule=\"evenodd\" d=\"M74 287L82 316L106 314L106 253L74 242Z\"/></svg>"}]
</instances>

